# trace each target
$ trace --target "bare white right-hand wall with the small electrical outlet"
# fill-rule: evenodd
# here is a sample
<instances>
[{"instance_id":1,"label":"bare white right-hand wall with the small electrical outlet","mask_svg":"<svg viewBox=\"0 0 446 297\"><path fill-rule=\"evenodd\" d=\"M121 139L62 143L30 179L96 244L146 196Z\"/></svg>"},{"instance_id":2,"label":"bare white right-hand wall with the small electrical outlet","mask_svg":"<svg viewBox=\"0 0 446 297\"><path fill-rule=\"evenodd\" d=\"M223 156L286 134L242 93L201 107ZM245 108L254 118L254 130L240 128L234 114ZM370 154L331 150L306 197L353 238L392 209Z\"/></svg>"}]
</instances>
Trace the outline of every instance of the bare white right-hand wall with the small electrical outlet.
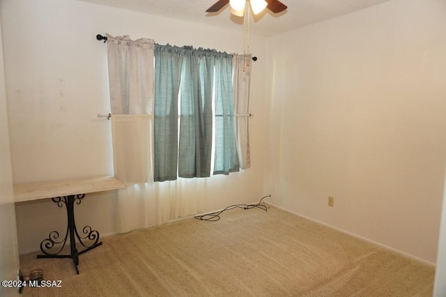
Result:
<instances>
[{"instance_id":1,"label":"bare white right-hand wall with the small electrical outlet","mask_svg":"<svg viewBox=\"0 0 446 297\"><path fill-rule=\"evenodd\" d=\"M277 206L436 262L445 31L446 1L393 0L268 40Z\"/></svg>"}]
</instances>

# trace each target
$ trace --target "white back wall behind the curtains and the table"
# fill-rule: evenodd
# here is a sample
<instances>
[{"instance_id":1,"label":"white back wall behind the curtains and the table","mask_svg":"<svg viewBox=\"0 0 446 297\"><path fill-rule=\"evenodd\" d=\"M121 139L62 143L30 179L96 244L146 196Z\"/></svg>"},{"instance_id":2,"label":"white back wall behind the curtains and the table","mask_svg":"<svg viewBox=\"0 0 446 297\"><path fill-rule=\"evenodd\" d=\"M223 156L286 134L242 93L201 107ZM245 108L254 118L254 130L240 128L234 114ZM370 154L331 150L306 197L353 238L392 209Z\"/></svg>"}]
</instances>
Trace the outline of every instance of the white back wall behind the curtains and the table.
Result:
<instances>
[{"instance_id":1,"label":"white back wall behind the curtains and the table","mask_svg":"<svg viewBox=\"0 0 446 297\"><path fill-rule=\"evenodd\" d=\"M110 122L97 117L109 112L107 48L96 34L243 52L241 26L228 31L82 1L2 0L1 17L14 183L113 174ZM252 64L252 168L211 178L206 211L263 196L262 41L252 36L250 47L259 56ZM77 223L113 234L114 207L113 193L89 195L76 207ZM49 200L18 204L16 213L21 253L66 226L65 210Z\"/></svg>"}]
</instances>

